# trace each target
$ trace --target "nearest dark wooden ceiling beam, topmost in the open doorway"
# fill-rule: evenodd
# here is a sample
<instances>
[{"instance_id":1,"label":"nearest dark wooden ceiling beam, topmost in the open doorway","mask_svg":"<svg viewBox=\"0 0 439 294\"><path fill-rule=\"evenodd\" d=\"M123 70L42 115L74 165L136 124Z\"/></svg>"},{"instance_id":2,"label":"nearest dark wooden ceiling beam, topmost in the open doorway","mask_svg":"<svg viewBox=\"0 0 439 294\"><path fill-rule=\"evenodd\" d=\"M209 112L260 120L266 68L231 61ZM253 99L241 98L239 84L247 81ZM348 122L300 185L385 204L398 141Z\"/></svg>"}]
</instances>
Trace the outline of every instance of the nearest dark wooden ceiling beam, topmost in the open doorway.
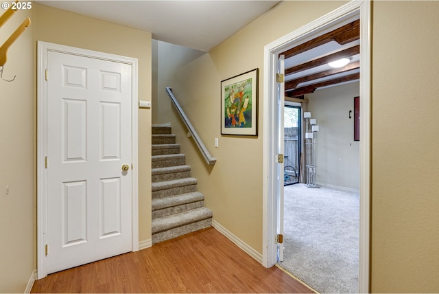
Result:
<instances>
[{"instance_id":1,"label":"nearest dark wooden ceiling beam, topmost in the open doorway","mask_svg":"<svg viewBox=\"0 0 439 294\"><path fill-rule=\"evenodd\" d=\"M343 25L327 34L322 34L322 36L318 36L317 38L313 38L310 41L297 45L287 51L282 52L279 55L285 55L285 59L305 52L309 49L313 49L320 45L329 43L331 41L335 41L340 45L345 45L347 43L351 43L352 41L359 39L359 19L357 21L353 21L352 23L348 23L347 25Z\"/></svg>"}]
</instances>

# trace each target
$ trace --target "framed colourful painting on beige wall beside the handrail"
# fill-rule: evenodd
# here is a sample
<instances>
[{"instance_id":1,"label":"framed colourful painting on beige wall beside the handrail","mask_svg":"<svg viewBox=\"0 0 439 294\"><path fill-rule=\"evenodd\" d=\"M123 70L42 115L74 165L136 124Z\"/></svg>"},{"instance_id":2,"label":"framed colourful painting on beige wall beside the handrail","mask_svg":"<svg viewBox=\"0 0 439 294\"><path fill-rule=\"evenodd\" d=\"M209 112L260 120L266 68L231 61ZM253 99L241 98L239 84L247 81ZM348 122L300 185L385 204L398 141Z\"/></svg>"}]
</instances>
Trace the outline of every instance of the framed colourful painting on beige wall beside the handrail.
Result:
<instances>
[{"instance_id":1,"label":"framed colourful painting on beige wall beside the handrail","mask_svg":"<svg viewBox=\"0 0 439 294\"><path fill-rule=\"evenodd\" d=\"M221 135L258 135L259 69L221 81Z\"/></svg>"}]
</instances>

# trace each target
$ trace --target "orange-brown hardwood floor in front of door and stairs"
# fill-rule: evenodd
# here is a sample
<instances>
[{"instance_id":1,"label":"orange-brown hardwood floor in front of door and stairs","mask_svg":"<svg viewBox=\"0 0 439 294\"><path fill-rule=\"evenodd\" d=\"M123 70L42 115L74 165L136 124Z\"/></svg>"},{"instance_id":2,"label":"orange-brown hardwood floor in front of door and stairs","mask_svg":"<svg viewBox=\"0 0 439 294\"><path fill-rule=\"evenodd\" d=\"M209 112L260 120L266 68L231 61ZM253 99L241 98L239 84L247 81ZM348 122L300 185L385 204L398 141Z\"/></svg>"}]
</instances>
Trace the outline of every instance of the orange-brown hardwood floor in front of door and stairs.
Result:
<instances>
[{"instance_id":1,"label":"orange-brown hardwood floor in front of door and stairs","mask_svg":"<svg viewBox=\"0 0 439 294\"><path fill-rule=\"evenodd\" d=\"M210 227L37 280L32 293L312 293Z\"/></svg>"}]
</instances>

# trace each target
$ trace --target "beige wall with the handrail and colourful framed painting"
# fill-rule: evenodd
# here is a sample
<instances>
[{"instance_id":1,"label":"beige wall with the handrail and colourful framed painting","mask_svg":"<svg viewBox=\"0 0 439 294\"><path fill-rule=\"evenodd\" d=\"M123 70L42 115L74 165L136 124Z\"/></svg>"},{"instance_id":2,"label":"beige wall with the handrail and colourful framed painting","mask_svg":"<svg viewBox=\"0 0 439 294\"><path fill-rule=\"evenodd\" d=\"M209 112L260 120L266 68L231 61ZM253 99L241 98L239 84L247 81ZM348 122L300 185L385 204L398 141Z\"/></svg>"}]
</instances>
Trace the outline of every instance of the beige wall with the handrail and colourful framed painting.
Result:
<instances>
[{"instance_id":1,"label":"beige wall with the handrail and colourful framed painting","mask_svg":"<svg viewBox=\"0 0 439 294\"><path fill-rule=\"evenodd\" d=\"M263 244L263 47L331 12L342 3L286 1L228 38L209 54L196 56L192 52L194 55L191 56L189 49L175 48L178 51L173 54L182 56L185 62L173 65L174 74L168 86L172 87L211 155L217 158L214 167L206 166L202 156L195 150L193 141L186 137L187 131L176 118L176 112L171 110L164 90L158 89L158 122L172 122L178 143L182 144L182 152L187 155L187 163L192 167L193 177L198 179L198 190L204 193L205 205L213 211L214 220L259 253L262 253ZM256 67L260 69L259 136L222 136L220 81ZM160 78L158 84L160 87ZM215 137L219 138L219 148L214 147Z\"/></svg>"}]
</instances>

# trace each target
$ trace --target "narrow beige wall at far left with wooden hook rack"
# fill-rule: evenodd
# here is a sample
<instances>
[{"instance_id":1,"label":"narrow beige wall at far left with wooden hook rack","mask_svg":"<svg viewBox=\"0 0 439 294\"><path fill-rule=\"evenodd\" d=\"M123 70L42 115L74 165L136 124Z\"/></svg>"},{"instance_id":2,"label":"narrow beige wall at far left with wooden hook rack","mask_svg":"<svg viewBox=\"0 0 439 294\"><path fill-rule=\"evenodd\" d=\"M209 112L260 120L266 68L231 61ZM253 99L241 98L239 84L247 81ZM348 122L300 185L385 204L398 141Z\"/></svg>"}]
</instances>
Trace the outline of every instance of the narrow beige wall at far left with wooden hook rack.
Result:
<instances>
[{"instance_id":1,"label":"narrow beige wall at far left with wooden hook rack","mask_svg":"<svg viewBox=\"0 0 439 294\"><path fill-rule=\"evenodd\" d=\"M0 46L26 17L32 25L8 50L3 72L16 79L0 80L0 293L25 291L35 269L33 10L16 12L0 27Z\"/></svg>"}]
</instances>

